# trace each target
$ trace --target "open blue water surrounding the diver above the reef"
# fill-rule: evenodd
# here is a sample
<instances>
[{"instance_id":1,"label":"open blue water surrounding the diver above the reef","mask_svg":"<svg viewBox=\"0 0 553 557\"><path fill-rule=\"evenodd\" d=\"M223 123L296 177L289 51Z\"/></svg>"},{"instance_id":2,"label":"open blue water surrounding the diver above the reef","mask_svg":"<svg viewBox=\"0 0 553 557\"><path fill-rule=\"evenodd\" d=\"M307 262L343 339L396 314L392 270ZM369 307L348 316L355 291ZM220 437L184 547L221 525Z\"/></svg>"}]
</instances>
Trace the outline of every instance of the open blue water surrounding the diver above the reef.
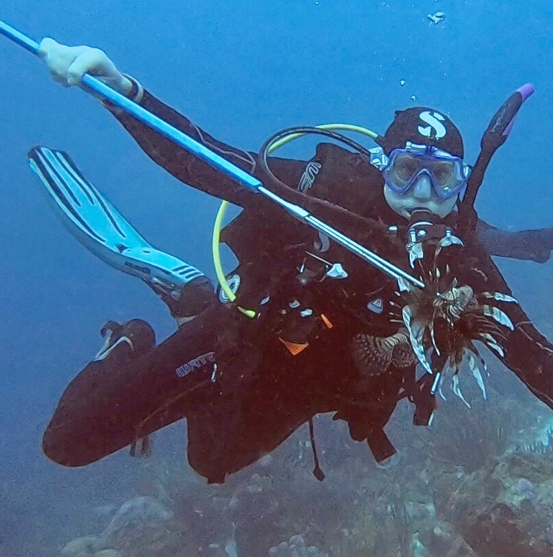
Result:
<instances>
[{"instance_id":1,"label":"open blue water surrounding the diver above the reef","mask_svg":"<svg viewBox=\"0 0 553 557\"><path fill-rule=\"evenodd\" d=\"M439 25L426 17L436 10L446 13ZM536 94L477 203L504 229L553 224L552 15L549 0L25 0L0 10L36 39L97 45L210 134L247 149L294 125L347 122L383 133L415 95L416 104L453 118L470 162L497 107L531 81ZM56 221L26 152L37 144L68 151L155 246L210 276L217 200L156 167L98 102L64 90L3 38L0 76L0 546L21 536L23 547L37 529L55 537L59 523L77 525L90 505L119 501L135 481L137 465L126 454L84 470L64 470L41 454L47 420L98 350L100 326L142 317L160 338L173 330L147 288L96 260ZM310 156L311 147L287 152ZM551 338L552 263L499 265ZM183 429L166 434L182 459ZM78 533L69 530L67 539Z\"/></svg>"}]
</instances>

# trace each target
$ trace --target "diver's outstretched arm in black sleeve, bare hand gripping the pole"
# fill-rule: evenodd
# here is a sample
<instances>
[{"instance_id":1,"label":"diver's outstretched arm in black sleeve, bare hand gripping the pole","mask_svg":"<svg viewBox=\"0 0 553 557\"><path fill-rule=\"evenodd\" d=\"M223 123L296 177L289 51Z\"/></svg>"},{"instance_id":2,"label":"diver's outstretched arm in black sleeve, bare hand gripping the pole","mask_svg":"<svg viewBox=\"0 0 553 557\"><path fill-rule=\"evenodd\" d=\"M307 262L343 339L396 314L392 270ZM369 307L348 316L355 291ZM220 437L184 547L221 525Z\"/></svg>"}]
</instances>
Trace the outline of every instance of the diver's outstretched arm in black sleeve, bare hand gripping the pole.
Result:
<instances>
[{"instance_id":1,"label":"diver's outstretched arm in black sleeve, bare hand gripping the pole","mask_svg":"<svg viewBox=\"0 0 553 557\"><path fill-rule=\"evenodd\" d=\"M47 64L54 79L65 87L80 86L80 78L83 74L92 74L180 132L195 139L248 174L259 178L258 172L261 169L257 154L236 149L206 134L188 118L145 91L133 78L122 74L102 50L88 46L70 47L56 43L53 39L43 39L39 55ZM238 184L194 154L175 145L127 112L107 101L104 104L135 138L144 152L181 182L241 207L258 202L259 196L255 196L248 187ZM305 169L305 161L281 158L271 160L270 166L276 176L288 183L299 182Z\"/></svg>"}]
</instances>

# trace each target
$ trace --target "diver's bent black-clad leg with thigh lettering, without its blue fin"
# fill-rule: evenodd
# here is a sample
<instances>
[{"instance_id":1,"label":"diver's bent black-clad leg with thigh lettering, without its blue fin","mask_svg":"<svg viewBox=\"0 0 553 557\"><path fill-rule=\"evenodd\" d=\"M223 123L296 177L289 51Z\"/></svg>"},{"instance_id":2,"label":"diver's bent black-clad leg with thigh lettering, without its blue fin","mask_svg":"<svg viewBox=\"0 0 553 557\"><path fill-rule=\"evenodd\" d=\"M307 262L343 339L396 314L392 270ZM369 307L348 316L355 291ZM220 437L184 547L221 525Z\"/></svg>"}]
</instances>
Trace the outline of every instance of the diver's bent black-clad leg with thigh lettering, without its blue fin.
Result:
<instances>
[{"instance_id":1,"label":"diver's bent black-clad leg with thigh lettering, without its blue fin","mask_svg":"<svg viewBox=\"0 0 553 557\"><path fill-rule=\"evenodd\" d=\"M145 322L115 330L111 345L63 393L44 435L45 454L65 466L86 465L213 398L215 333L231 327L236 313L214 302L159 346Z\"/></svg>"}]
</instances>

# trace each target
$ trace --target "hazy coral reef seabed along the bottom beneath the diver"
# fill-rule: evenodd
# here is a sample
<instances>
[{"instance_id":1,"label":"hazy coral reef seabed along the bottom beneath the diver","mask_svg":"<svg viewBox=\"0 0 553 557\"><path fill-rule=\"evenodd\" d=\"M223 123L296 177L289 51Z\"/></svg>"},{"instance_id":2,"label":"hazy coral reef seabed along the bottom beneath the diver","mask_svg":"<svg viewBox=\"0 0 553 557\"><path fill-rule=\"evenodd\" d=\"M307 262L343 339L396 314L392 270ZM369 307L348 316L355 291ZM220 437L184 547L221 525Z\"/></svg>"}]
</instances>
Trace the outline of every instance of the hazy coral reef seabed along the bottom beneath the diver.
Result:
<instances>
[{"instance_id":1,"label":"hazy coral reef seabed along the bottom beneath the diver","mask_svg":"<svg viewBox=\"0 0 553 557\"><path fill-rule=\"evenodd\" d=\"M312 474L307 429L224 485L154 456L138 484L148 496L121 505L100 534L73 540L61 556L553 554L550 423L540 408L490 396L497 400L486 405L473 399L471 412L455 400L428 431L392 427L409 451L391 470L378 469L331 416L315 420L323 482ZM398 423L409 414L402 403Z\"/></svg>"}]
</instances>

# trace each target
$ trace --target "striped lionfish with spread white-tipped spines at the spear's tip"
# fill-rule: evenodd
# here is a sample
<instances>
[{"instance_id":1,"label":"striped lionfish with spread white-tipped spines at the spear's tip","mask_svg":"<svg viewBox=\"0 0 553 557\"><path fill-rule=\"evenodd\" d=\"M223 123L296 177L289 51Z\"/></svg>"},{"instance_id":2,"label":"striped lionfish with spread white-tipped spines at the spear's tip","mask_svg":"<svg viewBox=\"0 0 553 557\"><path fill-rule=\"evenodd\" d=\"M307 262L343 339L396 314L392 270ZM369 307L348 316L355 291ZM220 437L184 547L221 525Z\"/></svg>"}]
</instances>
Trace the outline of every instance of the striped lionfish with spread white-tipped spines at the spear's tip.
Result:
<instances>
[{"instance_id":1,"label":"striped lionfish with spread white-tipped spines at the spear's tip","mask_svg":"<svg viewBox=\"0 0 553 557\"><path fill-rule=\"evenodd\" d=\"M470 286L459 284L448 264L440 271L437 257L443 246L439 244L435 250L431 271L424 271L421 264L424 288L402 278L398 280L396 294L402 304L392 303L398 314L392 312L397 319L391 319L403 325L398 333L390 337L358 334L352 341L352 354L358 369L369 376L378 375L391 364L404 368L418 362L426 372L435 375L431 392L438 390L444 399L442 377L451 369L452 390L470 408L459 386L462 363L468 362L486 400L482 370L487 372L488 368L474 343L481 341L503 357L501 344L506 340L503 331L514 330L514 326L508 315L492 304L517 300L499 292L476 294Z\"/></svg>"}]
</instances>

